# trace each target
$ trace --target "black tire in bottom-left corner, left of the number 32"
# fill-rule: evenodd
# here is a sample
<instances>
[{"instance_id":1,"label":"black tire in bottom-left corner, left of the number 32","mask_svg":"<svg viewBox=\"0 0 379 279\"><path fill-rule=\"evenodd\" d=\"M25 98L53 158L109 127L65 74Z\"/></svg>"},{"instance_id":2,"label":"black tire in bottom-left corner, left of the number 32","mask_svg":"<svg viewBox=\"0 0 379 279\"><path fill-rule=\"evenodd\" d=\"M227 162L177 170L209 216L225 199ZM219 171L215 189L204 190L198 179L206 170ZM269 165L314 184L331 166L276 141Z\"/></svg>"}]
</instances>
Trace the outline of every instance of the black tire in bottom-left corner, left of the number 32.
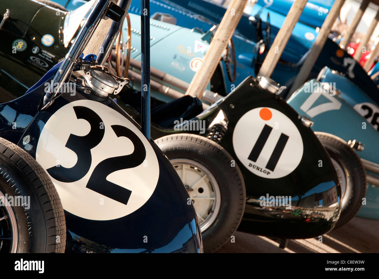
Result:
<instances>
[{"instance_id":1,"label":"black tire in bottom-left corner, left of the number 32","mask_svg":"<svg viewBox=\"0 0 379 279\"><path fill-rule=\"evenodd\" d=\"M0 138L0 192L12 197L27 196L29 201L0 206L0 235L14 238L4 228L16 228L17 253L63 253L66 246L66 222L61 200L45 170L26 151ZM10 220L16 221L13 226ZM13 223L14 224L14 223ZM12 231L12 230L11 230ZM8 245L8 244L9 245ZM0 252L9 252L11 241L0 240ZM16 244L17 243L17 244Z\"/></svg>"}]
</instances>

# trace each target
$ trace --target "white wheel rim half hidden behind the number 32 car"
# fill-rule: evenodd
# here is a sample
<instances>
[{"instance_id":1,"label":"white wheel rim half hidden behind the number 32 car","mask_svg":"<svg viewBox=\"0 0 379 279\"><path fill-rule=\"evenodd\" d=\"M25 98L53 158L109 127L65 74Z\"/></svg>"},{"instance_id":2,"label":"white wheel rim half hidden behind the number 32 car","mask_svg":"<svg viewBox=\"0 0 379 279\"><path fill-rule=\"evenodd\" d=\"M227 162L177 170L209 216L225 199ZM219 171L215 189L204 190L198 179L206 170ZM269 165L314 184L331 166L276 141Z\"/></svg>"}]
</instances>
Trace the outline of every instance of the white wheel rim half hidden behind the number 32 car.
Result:
<instances>
[{"instance_id":1,"label":"white wheel rim half hidden behind the number 32 car","mask_svg":"<svg viewBox=\"0 0 379 279\"><path fill-rule=\"evenodd\" d=\"M221 192L215 177L208 168L190 159L172 159L188 195L192 200L199 220L200 231L207 230L216 220L221 205Z\"/></svg>"}]
</instances>

